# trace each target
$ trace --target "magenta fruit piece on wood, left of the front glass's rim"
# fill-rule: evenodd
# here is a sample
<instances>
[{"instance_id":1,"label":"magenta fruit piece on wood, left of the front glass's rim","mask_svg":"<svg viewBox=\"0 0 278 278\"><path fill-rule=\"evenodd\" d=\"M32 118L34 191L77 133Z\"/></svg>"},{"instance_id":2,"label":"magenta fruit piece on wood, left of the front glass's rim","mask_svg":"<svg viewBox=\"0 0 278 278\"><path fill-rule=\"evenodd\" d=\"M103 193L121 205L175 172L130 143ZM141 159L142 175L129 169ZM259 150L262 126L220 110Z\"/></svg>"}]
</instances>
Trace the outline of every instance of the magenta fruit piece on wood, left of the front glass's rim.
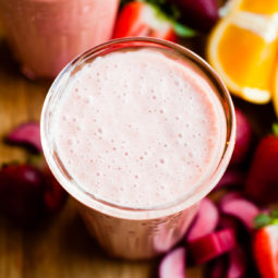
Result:
<instances>
[{"instance_id":1,"label":"magenta fruit piece on wood, left of the front glass's rim","mask_svg":"<svg viewBox=\"0 0 278 278\"><path fill-rule=\"evenodd\" d=\"M43 152L39 124L37 122L19 125L10 132L7 140L12 144L27 145L38 152Z\"/></svg>"}]
</instances>

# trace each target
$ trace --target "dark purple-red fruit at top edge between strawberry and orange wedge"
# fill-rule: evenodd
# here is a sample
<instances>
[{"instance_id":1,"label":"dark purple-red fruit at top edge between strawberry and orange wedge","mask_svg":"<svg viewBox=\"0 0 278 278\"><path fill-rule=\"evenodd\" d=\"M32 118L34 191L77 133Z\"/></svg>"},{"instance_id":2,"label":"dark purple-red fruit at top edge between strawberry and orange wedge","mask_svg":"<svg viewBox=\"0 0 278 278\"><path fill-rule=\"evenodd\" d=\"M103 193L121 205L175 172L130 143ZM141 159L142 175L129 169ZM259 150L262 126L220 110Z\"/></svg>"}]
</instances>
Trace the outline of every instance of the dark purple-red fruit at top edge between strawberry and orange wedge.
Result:
<instances>
[{"instance_id":1,"label":"dark purple-red fruit at top edge between strawberry and orange wedge","mask_svg":"<svg viewBox=\"0 0 278 278\"><path fill-rule=\"evenodd\" d=\"M217 0L171 0L181 12L185 24L201 31L209 31L217 22Z\"/></svg>"}]
</instances>

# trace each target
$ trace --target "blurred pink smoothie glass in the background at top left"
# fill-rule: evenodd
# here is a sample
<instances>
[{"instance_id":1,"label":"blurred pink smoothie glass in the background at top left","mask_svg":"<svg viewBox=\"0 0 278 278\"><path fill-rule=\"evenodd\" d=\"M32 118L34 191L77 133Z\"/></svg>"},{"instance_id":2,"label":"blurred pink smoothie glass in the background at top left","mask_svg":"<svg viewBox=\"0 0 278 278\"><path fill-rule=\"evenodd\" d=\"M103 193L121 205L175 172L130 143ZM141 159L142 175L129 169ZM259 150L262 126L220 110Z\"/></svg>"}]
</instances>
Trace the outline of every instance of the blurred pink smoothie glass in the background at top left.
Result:
<instances>
[{"instance_id":1,"label":"blurred pink smoothie glass in the background at top left","mask_svg":"<svg viewBox=\"0 0 278 278\"><path fill-rule=\"evenodd\" d=\"M7 38L29 77L55 77L111 36L119 0L0 0Z\"/></svg>"}]
</instances>

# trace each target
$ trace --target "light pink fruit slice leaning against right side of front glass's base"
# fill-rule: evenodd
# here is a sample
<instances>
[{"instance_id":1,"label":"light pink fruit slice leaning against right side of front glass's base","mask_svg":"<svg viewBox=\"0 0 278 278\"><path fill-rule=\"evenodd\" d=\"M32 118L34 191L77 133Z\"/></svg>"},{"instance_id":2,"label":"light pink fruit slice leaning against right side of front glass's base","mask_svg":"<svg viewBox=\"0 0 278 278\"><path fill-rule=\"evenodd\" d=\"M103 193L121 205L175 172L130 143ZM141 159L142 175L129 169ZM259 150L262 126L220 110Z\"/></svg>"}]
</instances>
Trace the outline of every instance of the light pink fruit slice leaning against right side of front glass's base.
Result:
<instances>
[{"instance_id":1,"label":"light pink fruit slice leaning against right side of front glass's base","mask_svg":"<svg viewBox=\"0 0 278 278\"><path fill-rule=\"evenodd\" d=\"M218 221L219 213L217 206L209 198L202 200L196 220L193 222L186 240L193 241L213 232Z\"/></svg>"}]
</instances>

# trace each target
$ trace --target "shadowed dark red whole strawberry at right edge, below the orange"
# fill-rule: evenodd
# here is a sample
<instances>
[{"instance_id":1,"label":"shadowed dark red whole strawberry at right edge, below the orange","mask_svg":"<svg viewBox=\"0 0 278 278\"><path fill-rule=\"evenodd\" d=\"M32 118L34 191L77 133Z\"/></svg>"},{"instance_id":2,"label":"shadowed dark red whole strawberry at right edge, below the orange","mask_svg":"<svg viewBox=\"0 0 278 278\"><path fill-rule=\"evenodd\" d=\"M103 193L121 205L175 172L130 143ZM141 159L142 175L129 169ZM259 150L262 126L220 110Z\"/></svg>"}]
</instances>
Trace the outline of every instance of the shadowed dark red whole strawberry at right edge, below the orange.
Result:
<instances>
[{"instance_id":1,"label":"shadowed dark red whole strawberry at right edge, below the orange","mask_svg":"<svg viewBox=\"0 0 278 278\"><path fill-rule=\"evenodd\" d=\"M261 204L277 202L278 131L259 142L247 173L245 192Z\"/></svg>"}]
</instances>

